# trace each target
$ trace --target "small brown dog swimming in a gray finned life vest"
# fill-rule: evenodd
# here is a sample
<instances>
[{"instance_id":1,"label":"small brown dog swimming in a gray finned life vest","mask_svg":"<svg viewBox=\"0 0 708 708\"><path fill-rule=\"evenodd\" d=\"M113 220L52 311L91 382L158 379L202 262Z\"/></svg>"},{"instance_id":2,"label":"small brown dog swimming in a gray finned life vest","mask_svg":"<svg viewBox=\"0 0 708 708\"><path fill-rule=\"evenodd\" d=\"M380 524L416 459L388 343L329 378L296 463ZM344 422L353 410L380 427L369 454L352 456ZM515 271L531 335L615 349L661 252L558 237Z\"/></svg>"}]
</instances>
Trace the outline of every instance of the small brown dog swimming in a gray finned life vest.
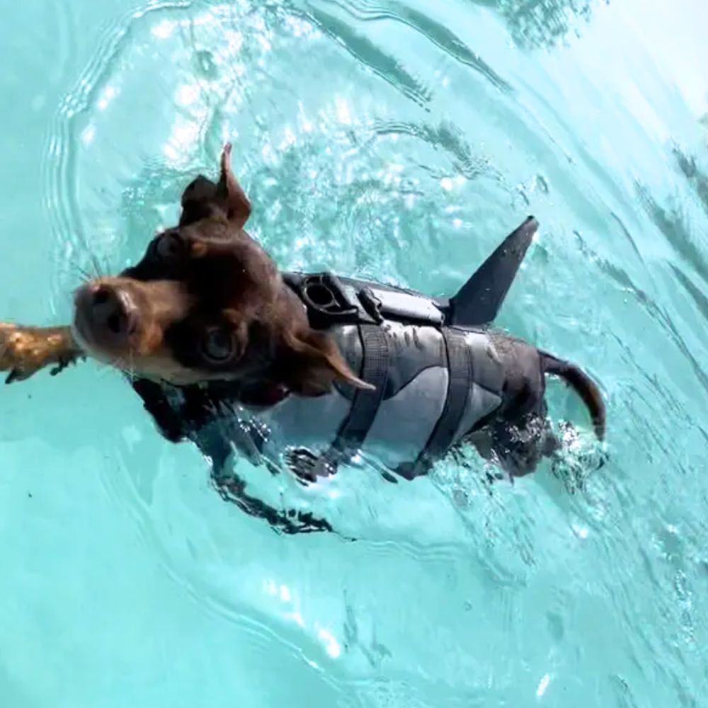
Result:
<instances>
[{"instance_id":1,"label":"small brown dog swimming in a gray finned life vest","mask_svg":"<svg viewBox=\"0 0 708 708\"><path fill-rule=\"evenodd\" d=\"M532 217L450 300L281 273L244 230L251 202L230 155L227 144L218 181L200 175L188 185L177 226L138 263L76 290L71 325L0 324L7 382L84 358L118 368L165 438L193 440L212 459L222 496L286 532L329 525L246 493L227 471L234 451L312 482L368 448L397 481L469 443L513 479L560 447L546 375L579 394L603 439L597 384L490 324L537 227Z\"/></svg>"}]
</instances>

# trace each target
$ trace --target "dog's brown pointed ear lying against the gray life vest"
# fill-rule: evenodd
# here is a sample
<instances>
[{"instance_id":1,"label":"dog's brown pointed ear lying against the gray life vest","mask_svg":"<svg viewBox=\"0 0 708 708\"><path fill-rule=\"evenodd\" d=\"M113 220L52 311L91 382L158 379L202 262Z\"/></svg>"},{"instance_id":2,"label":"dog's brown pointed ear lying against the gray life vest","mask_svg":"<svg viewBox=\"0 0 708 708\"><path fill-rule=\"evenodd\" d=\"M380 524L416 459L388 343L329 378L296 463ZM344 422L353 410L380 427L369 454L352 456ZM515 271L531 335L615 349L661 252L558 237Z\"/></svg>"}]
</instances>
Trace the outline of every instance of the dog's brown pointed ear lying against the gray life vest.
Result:
<instances>
[{"instance_id":1,"label":"dog's brown pointed ear lying against the gray life vest","mask_svg":"<svg viewBox=\"0 0 708 708\"><path fill-rule=\"evenodd\" d=\"M336 344L324 333L287 331L283 343L287 358L283 367L285 383L293 393L322 396L331 391L335 381L358 389L374 388L353 374Z\"/></svg>"}]
</instances>

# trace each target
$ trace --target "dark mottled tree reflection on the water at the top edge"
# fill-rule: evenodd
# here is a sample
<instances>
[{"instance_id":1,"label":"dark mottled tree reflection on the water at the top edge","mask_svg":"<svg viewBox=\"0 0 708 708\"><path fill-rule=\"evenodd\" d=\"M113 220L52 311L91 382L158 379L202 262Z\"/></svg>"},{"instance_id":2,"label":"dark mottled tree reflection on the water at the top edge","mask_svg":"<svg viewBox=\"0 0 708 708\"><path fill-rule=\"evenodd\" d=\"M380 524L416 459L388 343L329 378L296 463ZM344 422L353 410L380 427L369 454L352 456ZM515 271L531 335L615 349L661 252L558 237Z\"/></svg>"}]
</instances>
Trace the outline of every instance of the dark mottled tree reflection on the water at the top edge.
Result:
<instances>
[{"instance_id":1,"label":"dark mottled tree reflection on the water at the top edge","mask_svg":"<svg viewBox=\"0 0 708 708\"><path fill-rule=\"evenodd\" d=\"M580 35L593 9L610 0L474 0L501 13L514 41L530 49L554 47L567 35Z\"/></svg>"}]
</instances>

